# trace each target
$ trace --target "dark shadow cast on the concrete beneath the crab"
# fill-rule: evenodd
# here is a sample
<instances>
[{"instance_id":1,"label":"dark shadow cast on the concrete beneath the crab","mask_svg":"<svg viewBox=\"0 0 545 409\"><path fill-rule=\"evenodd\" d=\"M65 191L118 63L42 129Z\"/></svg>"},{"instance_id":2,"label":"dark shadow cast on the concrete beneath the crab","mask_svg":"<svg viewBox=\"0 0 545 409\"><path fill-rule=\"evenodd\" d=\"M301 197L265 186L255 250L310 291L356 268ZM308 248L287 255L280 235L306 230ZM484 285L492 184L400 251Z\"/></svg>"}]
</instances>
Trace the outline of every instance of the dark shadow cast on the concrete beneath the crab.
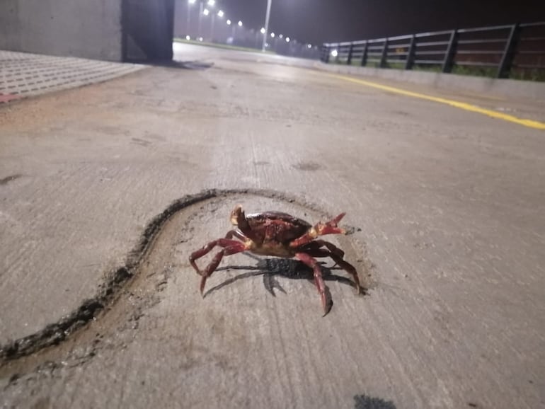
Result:
<instances>
[{"instance_id":1,"label":"dark shadow cast on the concrete beneath the crab","mask_svg":"<svg viewBox=\"0 0 545 409\"><path fill-rule=\"evenodd\" d=\"M272 296L276 296L275 290L287 294L285 289L280 285L280 282L278 282L277 277L287 277L292 280L308 280L314 285L314 272L309 266L305 265L299 260L293 260L291 258L258 258L252 254L244 255L257 260L257 265L227 265L226 267L218 268L216 272L229 270L247 271L236 275L235 277L231 277L229 280L225 280L221 284L217 284L217 286L210 288L207 292L205 292L204 296L207 296L212 292L216 292L219 289L231 285L239 280L244 280L257 275L263 276L263 286ZM326 267L325 264L326 263L320 262L324 282L336 281L347 284L354 289L356 288L352 280L341 275L333 274L333 270L342 270L340 267ZM327 286L326 296L328 299L331 299L331 294Z\"/></svg>"}]
</instances>

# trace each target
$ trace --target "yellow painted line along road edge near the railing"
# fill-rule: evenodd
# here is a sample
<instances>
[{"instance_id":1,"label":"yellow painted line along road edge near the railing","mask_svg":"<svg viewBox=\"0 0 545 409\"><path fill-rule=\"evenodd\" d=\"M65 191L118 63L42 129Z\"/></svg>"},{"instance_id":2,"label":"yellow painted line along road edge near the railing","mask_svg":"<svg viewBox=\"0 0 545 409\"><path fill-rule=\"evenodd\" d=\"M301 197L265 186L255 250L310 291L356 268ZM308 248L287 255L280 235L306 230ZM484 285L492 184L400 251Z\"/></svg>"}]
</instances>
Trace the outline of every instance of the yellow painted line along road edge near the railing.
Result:
<instances>
[{"instance_id":1,"label":"yellow painted line along road edge near the railing","mask_svg":"<svg viewBox=\"0 0 545 409\"><path fill-rule=\"evenodd\" d=\"M389 91L393 93L398 93L404 96L411 96L413 98L421 98L425 100L431 100L437 103L444 103L447 105L451 105L456 108L460 108L462 110L471 111L474 113L480 113L483 115L488 115L489 117L496 118L498 120L504 120L508 122L514 122L515 124L523 125L524 127L534 128L534 129L545 129L545 123L534 121L534 120L525 120L523 118L515 117L513 115L508 115L504 113L498 113L494 110L487 110L486 108L480 108L476 105L471 105L469 103L463 103L457 100L451 100L447 98L440 98L436 96L430 96L426 95L425 93L418 93L413 91L407 91L401 88L395 88L393 86L387 86L382 85L380 83L375 83L372 81L365 81L362 79L352 78L351 76L344 76L344 75L338 75L338 74L329 74L329 73L323 73L327 76L331 76L333 78L342 79L344 81L350 81L354 83L359 83L360 85L370 86L372 88L381 89L382 91Z\"/></svg>"}]
</instances>

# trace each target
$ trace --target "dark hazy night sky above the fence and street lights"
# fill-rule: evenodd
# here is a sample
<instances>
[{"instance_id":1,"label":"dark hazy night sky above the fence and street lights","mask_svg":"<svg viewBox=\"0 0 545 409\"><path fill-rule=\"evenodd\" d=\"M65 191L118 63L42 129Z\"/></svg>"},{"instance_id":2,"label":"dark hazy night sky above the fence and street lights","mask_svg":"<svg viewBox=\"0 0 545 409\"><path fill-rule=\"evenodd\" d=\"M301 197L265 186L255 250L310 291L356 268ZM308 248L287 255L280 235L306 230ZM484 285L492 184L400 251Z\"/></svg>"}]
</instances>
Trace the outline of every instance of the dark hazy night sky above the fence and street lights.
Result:
<instances>
[{"instance_id":1,"label":"dark hazy night sky above the fence and street lights","mask_svg":"<svg viewBox=\"0 0 545 409\"><path fill-rule=\"evenodd\" d=\"M266 5L267 0L217 0L228 18L256 29L264 25ZM545 0L272 0L270 31L320 44L545 21L544 11Z\"/></svg>"}]
</instances>

